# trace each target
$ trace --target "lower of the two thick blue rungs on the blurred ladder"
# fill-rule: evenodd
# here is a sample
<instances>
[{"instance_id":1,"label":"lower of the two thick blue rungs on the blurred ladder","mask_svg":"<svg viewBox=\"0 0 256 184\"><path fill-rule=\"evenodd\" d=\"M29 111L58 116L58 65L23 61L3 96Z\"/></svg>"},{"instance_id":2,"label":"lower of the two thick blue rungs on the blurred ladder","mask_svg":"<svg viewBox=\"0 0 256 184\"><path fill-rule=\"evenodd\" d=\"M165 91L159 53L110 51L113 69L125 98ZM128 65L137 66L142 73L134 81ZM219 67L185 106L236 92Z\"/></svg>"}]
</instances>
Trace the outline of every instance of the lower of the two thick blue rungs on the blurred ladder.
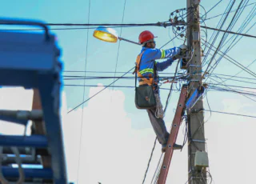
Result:
<instances>
[{"instance_id":1,"label":"lower of the two thick blue rungs on the blurred ladder","mask_svg":"<svg viewBox=\"0 0 256 184\"><path fill-rule=\"evenodd\" d=\"M26 178L44 178L52 179L53 172L51 169L23 169ZM2 174L5 178L18 178L18 168L2 166Z\"/></svg>"}]
</instances>

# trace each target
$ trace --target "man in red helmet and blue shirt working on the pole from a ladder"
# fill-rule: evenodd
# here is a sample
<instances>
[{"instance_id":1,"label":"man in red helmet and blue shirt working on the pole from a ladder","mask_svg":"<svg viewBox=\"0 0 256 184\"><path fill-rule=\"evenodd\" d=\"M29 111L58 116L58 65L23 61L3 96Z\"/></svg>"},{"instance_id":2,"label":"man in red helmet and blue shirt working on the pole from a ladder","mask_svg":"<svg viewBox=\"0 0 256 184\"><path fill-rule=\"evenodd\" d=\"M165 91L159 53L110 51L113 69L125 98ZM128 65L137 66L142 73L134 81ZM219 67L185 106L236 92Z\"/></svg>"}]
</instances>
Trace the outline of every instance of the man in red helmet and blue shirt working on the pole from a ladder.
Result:
<instances>
[{"instance_id":1,"label":"man in red helmet and blue shirt working on the pole from a ladder","mask_svg":"<svg viewBox=\"0 0 256 184\"><path fill-rule=\"evenodd\" d=\"M141 61L140 66L137 72L140 74L141 78L138 77L139 85L153 85L154 96L158 104L156 109L147 109L147 113L150 118L150 122L154 128L154 132L157 135L158 142L162 145L162 152L166 151L166 144L169 138L169 133L166 130L166 125L163 120L163 110L162 103L159 97L159 88L158 88L158 71L166 70L174 60L182 58L186 53L186 46L182 45L179 47L174 47L168 50L159 50L156 49L154 42L154 34L150 31L145 30L139 34L138 40L142 44L142 50L140 54ZM168 58L164 62L156 62L156 59ZM143 78L149 79L154 78L152 83L148 83L149 80L143 81ZM182 149L180 145L174 145L174 149Z\"/></svg>"}]
</instances>

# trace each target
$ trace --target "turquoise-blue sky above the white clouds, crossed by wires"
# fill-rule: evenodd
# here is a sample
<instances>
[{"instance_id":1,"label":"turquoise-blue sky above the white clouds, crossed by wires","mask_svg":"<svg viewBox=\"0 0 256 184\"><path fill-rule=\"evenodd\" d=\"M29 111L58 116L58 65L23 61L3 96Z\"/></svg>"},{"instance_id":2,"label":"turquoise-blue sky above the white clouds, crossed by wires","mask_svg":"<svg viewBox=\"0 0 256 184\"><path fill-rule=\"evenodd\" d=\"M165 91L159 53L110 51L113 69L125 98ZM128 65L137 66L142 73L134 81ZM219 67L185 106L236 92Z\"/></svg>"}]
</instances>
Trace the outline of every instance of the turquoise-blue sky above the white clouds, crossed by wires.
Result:
<instances>
[{"instance_id":1,"label":"turquoise-blue sky above the white clouds, crossed by wires","mask_svg":"<svg viewBox=\"0 0 256 184\"><path fill-rule=\"evenodd\" d=\"M217 1L202 1L201 5L206 10L210 10L210 8L214 6L216 2ZM214 10L210 11L210 14L207 14L207 18L210 18L216 14L222 14L226 9L228 2L229 1L227 0L222 1L221 4L218 5ZM250 1L249 3L251 2L254 2L254 1ZM124 1L114 1L114 0L91 1L90 2L90 23L121 23L123 5L124 5ZM9 0L9 1L2 2L2 6L0 8L0 17L37 19L47 23L87 23L88 12L89 12L88 6L89 6L89 1L87 0L86 1L77 0L73 2L67 1L67 0L62 0L62 1L60 0L54 0L54 1ZM236 2L235 6L238 6L238 2ZM153 22L159 22L159 21L160 22L167 21L169 19L169 15L171 11L179 8L183 8L183 7L186 7L186 1L164 0L161 2L156 2L152 0L141 0L141 1L126 0L124 23L151 23L151 22L153 23ZM246 8L245 13L242 14L242 17L238 20L237 24L234 26L234 29L233 29L234 31L236 31L238 26L241 25L242 21L244 20L244 18L249 13L249 10L251 10L252 7L253 6L249 6ZM230 18L232 18L231 15L230 15ZM221 17L213 18L206 21L206 26L216 27L218 24L219 18ZM254 22L255 22L255 18L253 19L253 21L250 22L247 28L249 28ZM226 26L228 26L228 24L226 24L223 27L223 29L225 29ZM16 27L17 26L15 26L15 28ZM254 34L256 31L255 27L251 29L250 32L248 32L247 34ZM54 28L54 26L52 26L52 28ZM116 30L118 31L118 33L120 33L121 29L117 28ZM149 27L149 26L123 28L122 37L128 38L130 40L137 42L138 34L142 30L151 30L155 35L158 35L157 47L164 45L166 42L170 40L170 38L173 37L173 34L170 32L168 28ZM99 41L92 36L93 31L94 30L89 30L89 34L88 34L89 37L87 38L87 30L51 30L51 33L54 33L57 35L58 45L62 49L62 61L64 62L64 66L65 66L64 70L79 70L79 71L85 70L85 64L86 64L86 70L114 72L116 61L117 61L117 55L118 55L117 71L125 72L127 70L130 70L131 67L134 66L136 56L141 49L140 46L135 46L129 42L121 42L120 50L118 54L118 43L114 44L114 43ZM208 30L208 37L210 37L212 33L213 31ZM88 40L88 51L86 53L87 40ZM242 38L242 40L238 42L238 44L234 46L234 48L230 50L228 54L230 55L230 57L234 58L236 61L241 62L242 65L247 66L250 64L250 62L252 62L256 58L255 51L254 51L254 42L255 42L254 38ZM170 42L170 44L168 44L164 48L167 49L173 46L179 46L180 44L182 44L182 42L176 39L174 40L174 42ZM217 44L215 44L215 46L217 46ZM174 63L173 66L171 66L165 72L173 73L175 65L176 65L176 62ZM255 67L256 67L255 64L250 66L250 70L254 71L256 69ZM232 75L232 74L236 74L240 70L241 69L239 69L237 66L234 66L233 64L226 61L225 59L222 59L217 69L214 70L214 73ZM84 73L64 73L64 75L83 75L83 74ZM98 74L89 73L86 75L97 76ZM111 76L111 75L113 74L104 74L104 76ZM120 76L120 74L117 74L116 76ZM127 75L127 76L131 77L131 75ZM250 76L249 74L246 74L245 72L242 72L239 76L253 78L252 76ZM86 80L86 84L97 85L98 83L102 83L103 85L106 86L112 81L113 79ZM83 84L83 81L72 80L72 81L64 81L64 83L65 84ZM245 85L245 86L255 87L255 85L253 84L244 84L239 82L230 81L226 83L229 85L237 85L237 86ZM118 82L115 82L115 85L134 86L134 81L121 79ZM170 85L167 84L167 85L164 85L163 87L169 88L169 86ZM112 88L110 88L110 90L111 89ZM90 90L92 89L90 89L89 87L86 87L85 98L89 97ZM124 101L123 101L123 104L121 104L120 106L126 112L126 117L130 118L130 130L135 130L135 131L136 130L152 130L146 112L143 110L137 110L134 106L134 90L125 89L125 88L114 89L114 90L118 90L118 91L121 90L122 93L124 94ZM66 99L65 99L66 108L68 109L73 108L74 106L77 106L79 103L82 102L82 98L83 98L82 87L65 86L64 92L66 94ZM164 104L166 102L167 93L168 91L162 90L162 102ZM173 110L176 106L178 95L179 95L178 93L173 93L171 96L169 107L167 110L169 113L166 114L166 122L171 122L174 116ZM110 94L110 96L112 99L113 94ZM95 97L95 98L98 98L98 97ZM255 102L251 101L248 98L245 98L242 95L210 91L208 93L208 99L210 103L210 108L212 110L223 110L223 111L226 110L232 113L254 115ZM112 101L110 101L110 103L111 102ZM86 102L84 106L88 107L89 106L88 102ZM100 104L99 102L98 106L102 106L102 104ZM205 108L209 109L206 103L205 103ZM102 112L98 112L98 114L101 114L101 113ZM78 110L75 112L75 114L77 115L77 117L76 117L76 120L72 123L75 123L77 126L80 126L82 112ZM210 114L206 113L205 115L206 115L206 118L208 118ZM106 123L109 123L110 121L111 121L111 118L106 119ZM239 123L241 122L250 123L250 121L251 119L248 120L248 118L241 118L241 117L234 117L234 116L230 117L230 115L212 114L209 122L207 123L218 122L215 124L216 126L211 128L218 130L219 134L222 134L223 130L226 130L226 129L232 130L231 128L234 125L236 125L235 130L239 130L239 128L241 128L238 125ZM97 122L97 121L94 121L94 122L85 121L85 123L94 123L94 124L98 124L99 127L101 127L100 122ZM111 130L113 129L114 127L106 126L106 132L107 131L111 132ZM244 131L246 134L246 130ZM82 133L86 134L83 131ZM150 135L152 135L154 138L154 134L150 134ZM225 134L223 133L222 135L224 136ZM211 138L214 142L213 145L220 144L220 142L214 139L215 137L211 137ZM150 143L149 143L149 147L146 149L150 150L150 146L151 146ZM82 145L86 146L85 143ZM147 158L150 153L145 152L145 154L146 155L144 156ZM181 159L184 159L184 158L181 158ZM74 160L74 162L77 162L77 161ZM145 163L142 163L142 164L146 166L146 161ZM144 170L139 170L138 172L140 172L140 174L142 175L143 171ZM74 166L74 172L75 172L75 166ZM215 171L214 174L215 175L217 174L219 178L221 178L221 174L219 174L217 171ZM72 180L76 180L75 176L73 175L71 178ZM217 182L217 183L220 183L220 182ZM103 184L105 183L103 182Z\"/></svg>"}]
</instances>

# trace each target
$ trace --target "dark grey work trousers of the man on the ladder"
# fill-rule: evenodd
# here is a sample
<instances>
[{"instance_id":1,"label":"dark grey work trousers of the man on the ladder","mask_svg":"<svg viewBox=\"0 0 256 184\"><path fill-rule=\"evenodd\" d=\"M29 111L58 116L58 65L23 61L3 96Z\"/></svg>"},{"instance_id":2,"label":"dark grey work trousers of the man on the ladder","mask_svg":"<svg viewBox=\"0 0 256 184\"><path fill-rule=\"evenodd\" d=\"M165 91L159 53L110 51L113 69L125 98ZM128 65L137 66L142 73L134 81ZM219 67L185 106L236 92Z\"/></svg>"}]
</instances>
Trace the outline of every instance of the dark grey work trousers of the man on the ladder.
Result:
<instances>
[{"instance_id":1,"label":"dark grey work trousers of the man on the ladder","mask_svg":"<svg viewBox=\"0 0 256 184\"><path fill-rule=\"evenodd\" d=\"M150 117L150 122L154 132L157 135L160 144L166 144L169 138L169 133L166 130L166 124L162 118L155 117L155 110L146 110Z\"/></svg>"}]
</instances>

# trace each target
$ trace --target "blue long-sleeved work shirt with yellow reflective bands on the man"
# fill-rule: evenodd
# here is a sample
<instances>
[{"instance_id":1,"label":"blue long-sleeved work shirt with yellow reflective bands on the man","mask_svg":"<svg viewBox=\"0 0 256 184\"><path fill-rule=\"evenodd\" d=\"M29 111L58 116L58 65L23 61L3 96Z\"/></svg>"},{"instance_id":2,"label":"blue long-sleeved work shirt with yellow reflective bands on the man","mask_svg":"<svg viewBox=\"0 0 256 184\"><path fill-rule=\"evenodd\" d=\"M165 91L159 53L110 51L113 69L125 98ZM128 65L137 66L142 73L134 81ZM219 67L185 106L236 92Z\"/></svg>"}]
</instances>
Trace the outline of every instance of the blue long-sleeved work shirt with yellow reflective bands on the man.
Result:
<instances>
[{"instance_id":1,"label":"blue long-sleeved work shirt with yellow reflective bands on the man","mask_svg":"<svg viewBox=\"0 0 256 184\"><path fill-rule=\"evenodd\" d=\"M142 52L144 53L142 54ZM150 49L142 47L140 54L142 54L141 64L139 67L139 73L142 74L144 78L149 78L150 76L154 78L154 81L158 80L157 71L166 70L174 62L173 57L179 54L180 49L177 47L168 50ZM156 59L168 58L164 62L156 62ZM156 66L156 76L154 75L154 65ZM141 78L138 78L138 81Z\"/></svg>"}]
</instances>

